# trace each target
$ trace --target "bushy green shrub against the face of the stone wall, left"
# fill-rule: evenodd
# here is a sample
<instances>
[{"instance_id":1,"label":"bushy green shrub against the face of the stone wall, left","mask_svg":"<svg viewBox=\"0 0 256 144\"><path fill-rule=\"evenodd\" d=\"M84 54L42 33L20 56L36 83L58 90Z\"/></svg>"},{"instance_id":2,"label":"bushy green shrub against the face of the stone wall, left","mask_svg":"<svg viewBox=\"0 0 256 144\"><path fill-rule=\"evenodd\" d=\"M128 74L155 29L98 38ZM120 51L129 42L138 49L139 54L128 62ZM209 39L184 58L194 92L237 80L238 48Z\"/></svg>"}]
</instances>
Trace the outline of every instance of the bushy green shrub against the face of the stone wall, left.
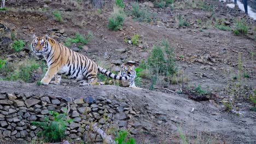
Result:
<instances>
[{"instance_id":1,"label":"bushy green shrub against the face of the stone wall, left","mask_svg":"<svg viewBox=\"0 0 256 144\"><path fill-rule=\"evenodd\" d=\"M53 115L52 120L45 117L45 122L31 122L31 124L43 127L43 131L39 131L37 135L44 137L45 142L61 142L65 138L65 122L70 121L66 119L65 115L58 112L50 111L50 114Z\"/></svg>"}]
</instances>

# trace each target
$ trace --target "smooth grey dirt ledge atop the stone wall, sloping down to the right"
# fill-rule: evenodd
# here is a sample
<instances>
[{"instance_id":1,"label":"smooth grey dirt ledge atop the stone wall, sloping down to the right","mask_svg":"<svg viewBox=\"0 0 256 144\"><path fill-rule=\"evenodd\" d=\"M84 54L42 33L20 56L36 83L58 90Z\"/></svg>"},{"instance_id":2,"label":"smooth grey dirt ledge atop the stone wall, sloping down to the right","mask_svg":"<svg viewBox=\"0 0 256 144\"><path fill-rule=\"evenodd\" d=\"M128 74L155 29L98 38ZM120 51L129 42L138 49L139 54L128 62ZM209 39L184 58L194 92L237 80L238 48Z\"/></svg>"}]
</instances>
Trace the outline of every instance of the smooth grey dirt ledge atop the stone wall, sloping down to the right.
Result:
<instances>
[{"instance_id":1,"label":"smooth grey dirt ledge atop the stone wall, sloping down to the right","mask_svg":"<svg viewBox=\"0 0 256 144\"><path fill-rule=\"evenodd\" d=\"M147 89L119 86L37 86L36 83L0 81L1 92L48 94L56 97L95 97L121 101L129 99L132 107L141 111L138 121L149 130L149 135L136 135L138 143L179 143L178 130L187 136L202 133L205 139L216 143L254 143L255 112L243 107L242 115L223 112L223 107L210 101L199 103L185 95L162 93ZM194 108L194 111L191 110ZM163 123L159 123L163 121ZM208 138L207 138L208 136ZM211 137L210 137L211 136ZM210 137L210 138L209 138ZM146 139L146 140L144 140ZM206 141L204 141L206 142Z\"/></svg>"}]
</instances>

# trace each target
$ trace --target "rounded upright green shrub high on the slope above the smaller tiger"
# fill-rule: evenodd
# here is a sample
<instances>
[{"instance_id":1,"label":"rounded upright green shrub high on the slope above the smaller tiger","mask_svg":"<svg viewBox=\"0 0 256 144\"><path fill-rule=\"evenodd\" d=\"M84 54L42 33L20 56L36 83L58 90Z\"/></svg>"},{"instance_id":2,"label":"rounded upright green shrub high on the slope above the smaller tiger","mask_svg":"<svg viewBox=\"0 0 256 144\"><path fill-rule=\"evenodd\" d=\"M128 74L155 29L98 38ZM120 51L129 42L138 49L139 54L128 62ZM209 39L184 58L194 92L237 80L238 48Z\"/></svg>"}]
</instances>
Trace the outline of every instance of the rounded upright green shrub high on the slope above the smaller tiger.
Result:
<instances>
[{"instance_id":1,"label":"rounded upright green shrub high on the slope above the smaller tiger","mask_svg":"<svg viewBox=\"0 0 256 144\"><path fill-rule=\"evenodd\" d=\"M125 14L122 9L114 8L114 12L108 17L107 27L110 30L117 31L123 25Z\"/></svg>"}]
</instances>

